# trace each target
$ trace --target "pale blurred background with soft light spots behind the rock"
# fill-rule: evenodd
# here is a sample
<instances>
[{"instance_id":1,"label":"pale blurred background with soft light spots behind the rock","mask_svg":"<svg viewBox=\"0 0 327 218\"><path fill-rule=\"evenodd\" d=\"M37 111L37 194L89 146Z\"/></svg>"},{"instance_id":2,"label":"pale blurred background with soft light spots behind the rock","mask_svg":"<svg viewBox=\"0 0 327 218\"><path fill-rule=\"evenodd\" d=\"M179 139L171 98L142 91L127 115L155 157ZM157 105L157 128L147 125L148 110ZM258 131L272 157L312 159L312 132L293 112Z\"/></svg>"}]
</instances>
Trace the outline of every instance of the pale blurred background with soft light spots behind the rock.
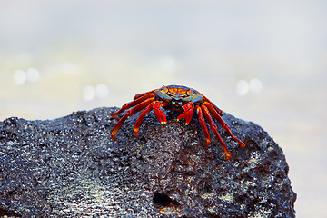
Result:
<instances>
[{"instance_id":1,"label":"pale blurred background with soft light spots behind the rock","mask_svg":"<svg viewBox=\"0 0 327 218\"><path fill-rule=\"evenodd\" d=\"M297 217L327 217L327 2L0 0L0 120L184 84L283 149Z\"/></svg>"}]
</instances>

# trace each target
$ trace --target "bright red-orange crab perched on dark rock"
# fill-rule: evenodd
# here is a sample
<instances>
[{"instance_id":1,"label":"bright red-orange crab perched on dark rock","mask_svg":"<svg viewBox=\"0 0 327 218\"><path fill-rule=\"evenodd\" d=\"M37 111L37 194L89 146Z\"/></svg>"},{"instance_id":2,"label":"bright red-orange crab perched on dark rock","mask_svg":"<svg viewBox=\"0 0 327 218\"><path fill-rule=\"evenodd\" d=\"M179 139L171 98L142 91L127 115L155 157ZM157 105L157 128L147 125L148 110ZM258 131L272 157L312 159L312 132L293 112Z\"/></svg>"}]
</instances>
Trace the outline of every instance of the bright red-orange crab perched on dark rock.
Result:
<instances>
[{"instance_id":1,"label":"bright red-orange crab perched on dark rock","mask_svg":"<svg viewBox=\"0 0 327 218\"><path fill-rule=\"evenodd\" d=\"M222 110L220 110L216 105L214 105L203 94L200 94L200 92L196 91L193 88L189 88L182 85L163 85L163 87L159 89L154 89L144 94L136 94L134 96L134 101L124 104L123 107L120 108L117 112L111 114L112 117L118 120L117 124L114 125L114 128L111 132L112 138L114 139L114 141L117 141L115 135L124 124L124 121L131 115L140 111L142 111L142 113L139 115L134 124L134 135L136 138L139 137L138 131L144 120L144 116L152 110L154 110L154 115L156 119L161 124L166 124L167 119L161 108L164 108L166 110L182 111L183 113L177 117L177 121L179 121L180 119L185 119L186 125L190 124L193 117L193 111L195 110L205 136L205 146L208 147L211 144L210 134L205 124L206 119L218 141L223 146L223 151L226 154L226 161L231 158L231 154L228 151L226 144L223 143L223 139L218 133L217 125L213 122L213 118L223 127L223 129L233 138L233 140L240 144L241 148L245 147L245 144L241 140L236 138L232 134L228 125L223 122ZM124 113L125 110L127 110L126 113L122 116L122 118L119 119L117 115Z\"/></svg>"}]
</instances>

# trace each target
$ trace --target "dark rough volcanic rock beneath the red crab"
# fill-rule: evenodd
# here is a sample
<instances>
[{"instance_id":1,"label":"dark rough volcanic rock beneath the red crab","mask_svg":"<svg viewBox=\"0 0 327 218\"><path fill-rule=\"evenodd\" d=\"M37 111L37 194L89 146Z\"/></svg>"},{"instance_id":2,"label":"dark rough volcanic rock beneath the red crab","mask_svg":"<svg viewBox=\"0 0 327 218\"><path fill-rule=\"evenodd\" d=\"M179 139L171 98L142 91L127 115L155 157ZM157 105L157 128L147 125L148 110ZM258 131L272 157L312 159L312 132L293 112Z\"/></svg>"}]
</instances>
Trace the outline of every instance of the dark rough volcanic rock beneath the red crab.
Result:
<instances>
[{"instance_id":1,"label":"dark rough volcanic rock beneath the red crab","mask_svg":"<svg viewBox=\"0 0 327 218\"><path fill-rule=\"evenodd\" d=\"M0 215L14 217L295 217L289 167L263 129L224 114L240 149L220 128L205 149L199 122L130 117L114 142L117 108L55 120L0 123Z\"/></svg>"}]
</instances>

